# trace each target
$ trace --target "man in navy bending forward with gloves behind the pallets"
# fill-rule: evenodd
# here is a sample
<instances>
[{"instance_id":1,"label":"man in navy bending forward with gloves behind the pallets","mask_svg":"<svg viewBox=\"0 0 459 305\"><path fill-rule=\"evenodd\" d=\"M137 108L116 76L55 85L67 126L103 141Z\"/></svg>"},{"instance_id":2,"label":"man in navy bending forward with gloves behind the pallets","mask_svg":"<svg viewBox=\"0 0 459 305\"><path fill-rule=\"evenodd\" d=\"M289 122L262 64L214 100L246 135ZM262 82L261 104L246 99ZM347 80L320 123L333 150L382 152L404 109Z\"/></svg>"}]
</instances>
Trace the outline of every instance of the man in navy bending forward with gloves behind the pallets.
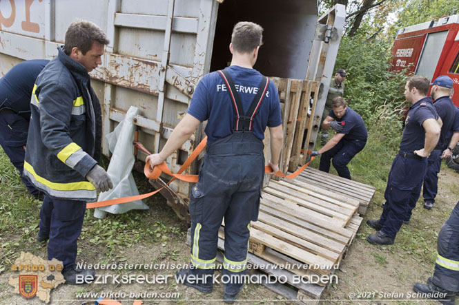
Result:
<instances>
[{"instance_id":1,"label":"man in navy bending forward with gloves behind the pallets","mask_svg":"<svg viewBox=\"0 0 459 305\"><path fill-rule=\"evenodd\" d=\"M311 156L322 154L319 165L321 171L328 173L332 160L338 175L351 179L347 165L367 144L365 123L357 112L346 106L344 98L338 96L333 100L332 110L322 123L323 129L330 127L335 130L335 136L319 151L313 151Z\"/></svg>"}]
</instances>

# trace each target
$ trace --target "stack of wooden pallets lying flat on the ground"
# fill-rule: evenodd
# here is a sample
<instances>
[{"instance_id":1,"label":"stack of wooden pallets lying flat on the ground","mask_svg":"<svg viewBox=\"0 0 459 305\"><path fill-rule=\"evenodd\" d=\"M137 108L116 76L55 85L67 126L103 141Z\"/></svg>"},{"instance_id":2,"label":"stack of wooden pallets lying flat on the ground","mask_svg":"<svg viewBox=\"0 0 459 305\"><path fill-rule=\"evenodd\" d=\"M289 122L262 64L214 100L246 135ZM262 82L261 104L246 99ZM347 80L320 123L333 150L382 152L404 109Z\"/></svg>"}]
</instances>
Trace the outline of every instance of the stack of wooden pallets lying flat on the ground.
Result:
<instances>
[{"instance_id":1,"label":"stack of wooden pallets lying flat on the ground","mask_svg":"<svg viewBox=\"0 0 459 305\"><path fill-rule=\"evenodd\" d=\"M318 302L326 286L325 282L311 284L308 279L332 277L363 219L358 209L364 200L346 195L339 188L329 188L328 176L309 183L314 174L322 173L316 171L307 169L292 180L271 180L263 189L258 221L251 223L247 257L249 264L261 266L251 269L252 273L284 280L266 282L266 287L307 304ZM348 185L348 189L362 189L368 202L375 192L373 187L359 182L332 178L334 183ZM224 251L224 223L218 246Z\"/></svg>"}]
</instances>

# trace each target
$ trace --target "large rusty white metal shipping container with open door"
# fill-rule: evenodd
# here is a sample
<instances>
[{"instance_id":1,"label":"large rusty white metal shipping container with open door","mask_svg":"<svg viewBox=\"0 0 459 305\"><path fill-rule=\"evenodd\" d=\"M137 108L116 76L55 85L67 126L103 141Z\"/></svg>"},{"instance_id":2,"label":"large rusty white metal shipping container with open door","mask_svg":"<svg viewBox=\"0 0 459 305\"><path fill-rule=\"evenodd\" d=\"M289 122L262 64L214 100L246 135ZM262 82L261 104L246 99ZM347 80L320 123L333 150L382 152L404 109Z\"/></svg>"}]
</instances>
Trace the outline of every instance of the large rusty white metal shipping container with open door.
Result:
<instances>
[{"instance_id":1,"label":"large rusty white metal shipping container with open door","mask_svg":"<svg viewBox=\"0 0 459 305\"><path fill-rule=\"evenodd\" d=\"M294 156L286 149L295 148L300 154L300 149L307 151L315 145L344 17L344 6L337 5L319 18L315 0L0 1L0 75L23 60L51 59L64 43L72 21L92 21L110 39L103 64L90 73L101 101L104 135L135 106L140 109L135 116L139 141L157 152L184 116L199 79L231 61L228 44L233 25L253 21L264 28L264 45L255 69L285 85L281 100L289 100L293 80L310 82L296 85L300 96L309 96L294 104L306 114L290 122L297 125L295 143L304 142L302 147L284 147L284 156ZM314 86L317 90L311 89ZM287 128L288 123L284 121L285 133L293 130ZM203 138L202 131L200 128L167 159L173 172ZM293 135L291 138L293 143ZM102 150L109 156L105 139ZM297 162L306 159L301 154L301 158L295 155ZM145 154L139 152L137 158L144 160ZM186 173L197 173L198 163L193 162ZM152 184L159 187L166 180L168 177ZM174 181L162 191L182 218L189 217L190 189L189 183Z\"/></svg>"}]
</instances>

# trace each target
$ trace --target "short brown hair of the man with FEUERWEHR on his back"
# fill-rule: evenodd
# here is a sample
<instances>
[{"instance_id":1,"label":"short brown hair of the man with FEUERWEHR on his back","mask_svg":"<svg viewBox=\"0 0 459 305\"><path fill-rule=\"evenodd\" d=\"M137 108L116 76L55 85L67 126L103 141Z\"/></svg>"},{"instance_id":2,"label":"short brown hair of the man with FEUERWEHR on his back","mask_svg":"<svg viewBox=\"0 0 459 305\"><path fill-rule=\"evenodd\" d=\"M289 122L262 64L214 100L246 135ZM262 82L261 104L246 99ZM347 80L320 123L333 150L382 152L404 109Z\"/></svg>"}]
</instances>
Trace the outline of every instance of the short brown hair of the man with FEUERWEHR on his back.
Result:
<instances>
[{"instance_id":1,"label":"short brown hair of the man with FEUERWEHR on his back","mask_svg":"<svg viewBox=\"0 0 459 305\"><path fill-rule=\"evenodd\" d=\"M263 28L257 23L242 21L236 23L231 34L233 50L238 53L250 53L262 45Z\"/></svg>"}]
</instances>

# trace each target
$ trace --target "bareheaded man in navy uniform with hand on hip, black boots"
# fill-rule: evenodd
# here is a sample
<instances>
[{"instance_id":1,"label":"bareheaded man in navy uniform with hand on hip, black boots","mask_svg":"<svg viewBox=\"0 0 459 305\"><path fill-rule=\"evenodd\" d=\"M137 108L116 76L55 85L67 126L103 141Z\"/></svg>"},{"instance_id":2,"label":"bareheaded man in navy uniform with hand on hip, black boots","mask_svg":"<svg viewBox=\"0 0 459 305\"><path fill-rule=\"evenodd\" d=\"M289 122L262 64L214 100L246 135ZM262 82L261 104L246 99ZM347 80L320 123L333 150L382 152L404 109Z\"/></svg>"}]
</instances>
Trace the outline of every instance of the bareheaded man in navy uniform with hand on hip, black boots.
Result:
<instances>
[{"instance_id":1,"label":"bareheaded man in navy uniform with hand on hip, black boots","mask_svg":"<svg viewBox=\"0 0 459 305\"><path fill-rule=\"evenodd\" d=\"M367 224L378 233L369 235L371 244L393 244L395 235L409 212L410 203L420 196L420 188L427 170L427 157L440 137L441 119L427 97L429 79L412 76L405 85L405 97L411 103L400 142L400 150L393 160L382 214L379 220Z\"/></svg>"}]
</instances>

